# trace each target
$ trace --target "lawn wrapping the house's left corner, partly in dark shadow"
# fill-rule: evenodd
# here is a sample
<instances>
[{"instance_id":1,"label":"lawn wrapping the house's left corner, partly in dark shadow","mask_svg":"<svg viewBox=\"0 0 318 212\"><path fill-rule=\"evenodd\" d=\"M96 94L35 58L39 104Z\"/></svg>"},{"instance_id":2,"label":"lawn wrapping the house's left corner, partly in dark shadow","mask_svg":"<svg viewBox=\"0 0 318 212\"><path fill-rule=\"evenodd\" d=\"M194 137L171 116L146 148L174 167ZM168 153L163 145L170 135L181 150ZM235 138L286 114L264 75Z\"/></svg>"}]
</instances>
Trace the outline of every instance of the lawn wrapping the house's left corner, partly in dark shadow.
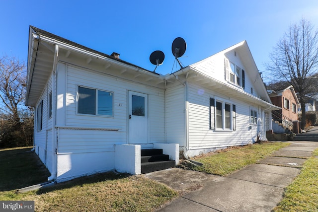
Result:
<instances>
[{"instance_id":1,"label":"lawn wrapping the house's left corner, partly in dark shadow","mask_svg":"<svg viewBox=\"0 0 318 212\"><path fill-rule=\"evenodd\" d=\"M178 192L151 179L114 172L81 177L17 194L16 188L47 180L47 173L43 172L46 169L38 163L33 152L27 152L29 149L0 151L1 163L5 160L5 165L1 165L1 201L35 201L35 211L41 212L150 212L179 196Z\"/></svg>"}]
</instances>

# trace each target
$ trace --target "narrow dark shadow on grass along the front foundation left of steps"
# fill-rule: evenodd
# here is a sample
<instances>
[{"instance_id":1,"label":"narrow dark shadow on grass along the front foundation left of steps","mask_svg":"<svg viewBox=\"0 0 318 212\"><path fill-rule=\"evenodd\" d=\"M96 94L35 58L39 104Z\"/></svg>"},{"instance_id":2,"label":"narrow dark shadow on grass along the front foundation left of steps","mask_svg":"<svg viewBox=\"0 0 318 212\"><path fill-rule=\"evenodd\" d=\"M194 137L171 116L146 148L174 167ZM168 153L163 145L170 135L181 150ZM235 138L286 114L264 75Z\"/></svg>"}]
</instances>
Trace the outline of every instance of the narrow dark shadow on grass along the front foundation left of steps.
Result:
<instances>
[{"instance_id":1,"label":"narrow dark shadow on grass along the front foundation left of steps","mask_svg":"<svg viewBox=\"0 0 318 212\"><path fill-rule=\"evenodd\" d=\"M36 194L41 195L52 191L58 191L63 189L69 189L73 187L81 187L84 184L94 184L98 182L108 181L108 180L118 180L127 178L129 176L132 176L128 173L119 173L119 172L104 172L94 175L89 175L85 177L79 177L70 181L57 183L53 186L44 187L42 189L39 189Z\"/></svg>"}]
</instances>

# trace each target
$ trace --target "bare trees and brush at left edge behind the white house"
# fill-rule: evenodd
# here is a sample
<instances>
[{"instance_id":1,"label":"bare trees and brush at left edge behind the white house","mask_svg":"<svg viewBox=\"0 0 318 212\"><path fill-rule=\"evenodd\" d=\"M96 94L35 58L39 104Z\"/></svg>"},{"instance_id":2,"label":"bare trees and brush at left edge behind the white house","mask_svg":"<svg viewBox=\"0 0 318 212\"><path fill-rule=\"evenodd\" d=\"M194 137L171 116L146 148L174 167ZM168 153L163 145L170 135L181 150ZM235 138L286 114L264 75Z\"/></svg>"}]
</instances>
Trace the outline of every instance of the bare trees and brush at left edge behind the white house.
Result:
<instances>
[{"instance_id":1,"label":"bare trees and brush at left edge behind the white house","mask_svg":"<svg viewBox=\"0 0 318 212\"><path fill-rule=\"evenodd\" d=\"M28 145L33 135L33 110L24 106L26 69L24 63L0 58L0 146Z\"/></svg>"}]
</instances>

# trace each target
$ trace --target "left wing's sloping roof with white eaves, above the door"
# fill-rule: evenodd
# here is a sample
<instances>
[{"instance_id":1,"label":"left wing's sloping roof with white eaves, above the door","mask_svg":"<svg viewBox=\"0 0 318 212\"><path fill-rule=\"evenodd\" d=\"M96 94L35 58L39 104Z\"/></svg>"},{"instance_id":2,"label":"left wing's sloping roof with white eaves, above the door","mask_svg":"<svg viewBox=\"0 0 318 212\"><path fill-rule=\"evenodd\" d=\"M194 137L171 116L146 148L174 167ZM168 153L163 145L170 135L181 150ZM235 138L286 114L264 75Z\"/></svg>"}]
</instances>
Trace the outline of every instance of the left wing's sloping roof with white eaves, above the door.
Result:
<instances>
[{"instance_id":1,"label":"left wing's sloping roof with white eaves, above the door","mask_svg":"<svg viewBox=\"0 0 318 212\"><path fill-rule=\"evenodd\" d=\"M149 83L155 81L153 83L159 84L161 82L163 84L163 77L158 73L143 69L115 56L98 52L50 32L30 26L27 62L27 91L25 100L26 105L35 106L37 103L50 74L56 69L57 61L62 50L65 52L64 57L68 57L65 55L69 55L71 52L78 55L84 55L87 60L87 64L90 63L91 60L99 61L99 63L106 64L104 66L116 66L116 71L127 71L133 73L134 76L146 75L148 78L151 78L149 79Z\"/></svg>"}]
</instances>

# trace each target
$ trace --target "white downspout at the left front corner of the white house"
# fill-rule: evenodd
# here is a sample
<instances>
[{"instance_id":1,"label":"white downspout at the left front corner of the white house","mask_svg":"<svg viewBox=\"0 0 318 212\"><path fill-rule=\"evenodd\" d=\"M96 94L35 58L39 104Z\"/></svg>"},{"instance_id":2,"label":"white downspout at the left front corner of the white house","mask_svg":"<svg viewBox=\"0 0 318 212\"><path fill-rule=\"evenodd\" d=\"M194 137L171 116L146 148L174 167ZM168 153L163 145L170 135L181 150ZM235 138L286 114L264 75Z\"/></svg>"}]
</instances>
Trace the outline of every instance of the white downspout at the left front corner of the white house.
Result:
<instances>
[{"instance_id":1,"label":"white downspout at the left front corner of the white house","mask_svg":"<svg viewBox=\"0 0 318 212\"><path fill-rule=\"evenodd\" d=\"M48 181L53 181L56 180L57 177L57 153L58 153L58 133L56 132L56 69L57 69L57 63L58 63L58 57L59 57L59 46L56 44L55 45L55 53L54 53L54 61L53 61L53 69L52 69L52 96L54 98L52 98L52 125L53 125L53 129L52 129L52 142L54 143L53 146L53 170L52 170L52 174L51 176L48 177Z\"/></svg>"}]
</instances>

